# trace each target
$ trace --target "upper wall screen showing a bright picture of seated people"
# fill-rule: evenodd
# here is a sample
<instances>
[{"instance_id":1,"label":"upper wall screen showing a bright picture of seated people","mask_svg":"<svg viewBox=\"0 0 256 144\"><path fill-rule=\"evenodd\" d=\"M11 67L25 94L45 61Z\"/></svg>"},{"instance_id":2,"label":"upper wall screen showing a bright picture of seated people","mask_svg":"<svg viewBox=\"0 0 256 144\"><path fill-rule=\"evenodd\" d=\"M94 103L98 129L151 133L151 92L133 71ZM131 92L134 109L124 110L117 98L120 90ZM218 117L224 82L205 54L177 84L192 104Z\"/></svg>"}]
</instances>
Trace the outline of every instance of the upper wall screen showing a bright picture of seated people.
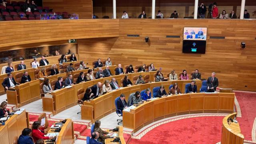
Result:
<instances>
[{"instance_id":1,"label":"upper wall screen showing a bright picture of seated people","mask_svg":"<svg viewBox=\"0 0 256 144\"><path fill-rule=\"evenodd\" d=\"M183 40L206 40L207 28L184 27Z\"/></svg>"}]
</instances>

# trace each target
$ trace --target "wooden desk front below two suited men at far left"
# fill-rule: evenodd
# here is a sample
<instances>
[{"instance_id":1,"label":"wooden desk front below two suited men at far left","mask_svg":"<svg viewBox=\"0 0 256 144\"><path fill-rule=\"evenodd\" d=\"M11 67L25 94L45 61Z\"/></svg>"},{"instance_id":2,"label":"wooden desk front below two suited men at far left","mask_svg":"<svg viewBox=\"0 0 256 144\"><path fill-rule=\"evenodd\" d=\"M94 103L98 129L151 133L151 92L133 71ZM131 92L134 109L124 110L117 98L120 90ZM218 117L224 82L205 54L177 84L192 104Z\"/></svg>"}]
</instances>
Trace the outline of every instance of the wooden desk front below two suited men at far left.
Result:
<instances>
[{"instance_id":1,"label":"wooden desk front below two suited men at far left","mask_svg":"<svg viewBox=\"0 0 256 144\"><path fill-rule=\"evenodd\" d=\"M16 105L18 108L41 98L39 80L32 80L17 85L15 86L15 90L17 95L15 91L7 91L7 102L8 104Z\"/></svg>"}]
</instances>

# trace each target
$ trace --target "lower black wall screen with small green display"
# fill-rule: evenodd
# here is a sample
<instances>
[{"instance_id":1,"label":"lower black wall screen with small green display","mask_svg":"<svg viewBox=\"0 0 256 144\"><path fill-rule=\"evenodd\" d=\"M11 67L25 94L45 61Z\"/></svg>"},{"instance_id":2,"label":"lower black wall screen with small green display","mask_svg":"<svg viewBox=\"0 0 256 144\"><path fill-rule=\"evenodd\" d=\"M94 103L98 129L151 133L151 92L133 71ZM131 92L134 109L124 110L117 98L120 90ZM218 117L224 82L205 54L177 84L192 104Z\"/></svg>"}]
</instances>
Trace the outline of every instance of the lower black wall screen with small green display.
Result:
<instances>
[{"instance_id":1,"label":"lower black wall screen with small green display","mask_svg":"<svg viewBox=\"0 0 256 144\"><path fill-rule=\"evenodd\" d=\"M205 54L205 40L183 40L183 53Z\"/></svg>"}]
</instances>

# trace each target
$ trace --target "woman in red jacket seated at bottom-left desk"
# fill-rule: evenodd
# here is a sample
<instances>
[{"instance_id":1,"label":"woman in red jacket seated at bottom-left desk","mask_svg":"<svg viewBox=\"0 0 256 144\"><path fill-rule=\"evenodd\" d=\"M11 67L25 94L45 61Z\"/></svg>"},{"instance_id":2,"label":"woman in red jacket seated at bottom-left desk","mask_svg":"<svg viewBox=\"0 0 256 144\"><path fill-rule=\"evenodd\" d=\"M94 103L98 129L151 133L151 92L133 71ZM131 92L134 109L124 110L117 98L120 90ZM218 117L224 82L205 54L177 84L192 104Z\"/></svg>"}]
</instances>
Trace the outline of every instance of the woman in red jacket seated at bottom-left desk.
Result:
<instances>
[{"instance_id":1,"label":"woman in red jacket seated at bottom-left desk","mask_svg":"<svg viewBox=\"0 0 256 144\"><path fill-rule=\"evenodd\" d=\"M34 141L36 142L37 140L40 140L40 139L44 139L44 140L47 140L47 139L52 139L54 138L53 136L44 136L44 132L42 132L39 128L41 126L41 122L34 122L32 124L32 138L34 139Z\"/></svg>"}]
</instances>

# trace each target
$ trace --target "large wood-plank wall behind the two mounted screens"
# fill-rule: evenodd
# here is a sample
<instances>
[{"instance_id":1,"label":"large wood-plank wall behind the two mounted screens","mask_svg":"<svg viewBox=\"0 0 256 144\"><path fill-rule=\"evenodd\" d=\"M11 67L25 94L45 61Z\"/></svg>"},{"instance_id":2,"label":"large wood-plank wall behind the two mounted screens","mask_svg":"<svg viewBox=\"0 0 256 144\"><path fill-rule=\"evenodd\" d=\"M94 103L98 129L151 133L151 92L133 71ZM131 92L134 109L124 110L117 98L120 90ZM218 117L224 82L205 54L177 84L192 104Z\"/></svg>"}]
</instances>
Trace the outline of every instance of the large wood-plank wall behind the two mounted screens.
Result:
<instances>
[{"instance_id":1,"label":"large wood-plank wall behind the two mounted screens","mask_svg":"<svg viewBox=\"0 0 256 144\"><path fill-rule=\"evenodd\" d=\"M256 91L256 40L254 20L119 20L120 37L79 40L80 58L92 63L97 58L112 58L112 64L154 63L166 74L196 68L202 78L216 72L219 86L234 90ZM183 27L207 27L206 54L182 53ZM140 37L127 37L139 34ZM180 38L166 38L177 35ZM150 41L145 42L148 36ZM225 39L210 39L225 36ZM241 42L246 48L241 49ZM246 87L247 86L247 87Z\"/></svg>"}]
</instances>

